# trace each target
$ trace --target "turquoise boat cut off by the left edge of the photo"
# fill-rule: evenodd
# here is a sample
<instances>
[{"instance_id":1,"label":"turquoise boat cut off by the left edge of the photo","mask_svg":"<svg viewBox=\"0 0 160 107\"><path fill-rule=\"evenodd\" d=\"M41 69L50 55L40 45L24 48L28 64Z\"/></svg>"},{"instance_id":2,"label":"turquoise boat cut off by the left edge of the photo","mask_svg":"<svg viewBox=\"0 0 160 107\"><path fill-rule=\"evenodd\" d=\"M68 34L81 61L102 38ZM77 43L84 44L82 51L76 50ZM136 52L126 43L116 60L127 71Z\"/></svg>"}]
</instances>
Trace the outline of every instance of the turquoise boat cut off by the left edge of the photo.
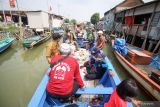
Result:
<instances>
[{"instance_id":1,"label":"turquoise boat cut off by the left edge of the photo","mask_svg":"<svg viewBox=\"0 0 160 107\"><path fill-rule=\"evenodd\" d=\"M2 53L4 50L6 50L8 47L12 45L12 42L14 41L14 38L6 38L4 40L0 41L0 53Z\"/></svg>"}]
</instances>

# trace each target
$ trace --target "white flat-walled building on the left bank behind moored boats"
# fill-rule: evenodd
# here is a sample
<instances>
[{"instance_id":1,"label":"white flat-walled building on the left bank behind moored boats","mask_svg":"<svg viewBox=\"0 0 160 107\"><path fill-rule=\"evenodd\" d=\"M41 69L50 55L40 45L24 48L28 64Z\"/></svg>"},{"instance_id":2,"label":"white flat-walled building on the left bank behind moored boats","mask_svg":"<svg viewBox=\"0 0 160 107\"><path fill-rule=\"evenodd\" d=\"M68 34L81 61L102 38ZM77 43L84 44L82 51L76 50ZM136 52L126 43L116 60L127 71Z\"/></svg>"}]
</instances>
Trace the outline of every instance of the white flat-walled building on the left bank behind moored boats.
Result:
<instances>
[{"instance_id":1,"label":"white flat-walled building on the left bank behind moored boats","mask_svg":"<svg viewBox=\"0 0 160 107\"><path fill-rule=\"evenodd\" d=\"M29 27L36 29L49 29L50 26L61 27L63 20L62 16L45 11L28 11L26 14Z\"/></svg>"}]
</instances>

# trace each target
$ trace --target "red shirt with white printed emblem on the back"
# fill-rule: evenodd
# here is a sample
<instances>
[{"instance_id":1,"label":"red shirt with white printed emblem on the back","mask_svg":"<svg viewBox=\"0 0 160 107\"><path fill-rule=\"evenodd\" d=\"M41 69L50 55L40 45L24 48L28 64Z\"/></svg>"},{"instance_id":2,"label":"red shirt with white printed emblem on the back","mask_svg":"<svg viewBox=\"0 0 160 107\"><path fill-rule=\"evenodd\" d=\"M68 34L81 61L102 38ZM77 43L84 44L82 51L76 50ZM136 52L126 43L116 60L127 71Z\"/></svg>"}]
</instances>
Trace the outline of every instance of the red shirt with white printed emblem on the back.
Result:
<instances>
[{"instance_id":1,"label":"red shirt with white printed emblem on the back","mask_svg":"<svg viewBox=\"0 0 160 107\"><path fill-rule=\"evenodd\" d=\"M51 63L63 58L64 56L58 55L51 59ZM47 92L57 95L67 95L72 91L74 79L80 85L84 86L79 72L79 64L76 59L68 57L62 62L55 65L50 73L50 80L47 84Z\"/></svg>"}]
</instances>

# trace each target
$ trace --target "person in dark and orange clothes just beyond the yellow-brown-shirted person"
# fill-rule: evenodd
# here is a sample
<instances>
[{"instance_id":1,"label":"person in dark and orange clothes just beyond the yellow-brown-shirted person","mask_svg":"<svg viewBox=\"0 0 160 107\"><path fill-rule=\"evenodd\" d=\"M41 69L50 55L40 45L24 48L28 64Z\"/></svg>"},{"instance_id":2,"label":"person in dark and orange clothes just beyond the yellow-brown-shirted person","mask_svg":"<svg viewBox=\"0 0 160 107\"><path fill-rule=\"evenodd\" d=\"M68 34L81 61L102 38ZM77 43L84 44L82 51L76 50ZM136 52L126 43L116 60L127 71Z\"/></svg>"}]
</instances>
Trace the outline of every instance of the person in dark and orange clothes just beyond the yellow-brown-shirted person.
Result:
<instances>
[{"instance_id":1,"label":"person in dark and orange clothes just beyond the yellow-brown-shirted person","mask_svg":"<svg viewBox=\"0 0 160 107\"><path fill-rule=\"evenodd\" d=\"M68 44L74 45L76 50L78 50L78 44L74 40L73 33L69 29L66 30L66 34L63 38L63 43L68 43Z\"/></svg>"}]
</instances>

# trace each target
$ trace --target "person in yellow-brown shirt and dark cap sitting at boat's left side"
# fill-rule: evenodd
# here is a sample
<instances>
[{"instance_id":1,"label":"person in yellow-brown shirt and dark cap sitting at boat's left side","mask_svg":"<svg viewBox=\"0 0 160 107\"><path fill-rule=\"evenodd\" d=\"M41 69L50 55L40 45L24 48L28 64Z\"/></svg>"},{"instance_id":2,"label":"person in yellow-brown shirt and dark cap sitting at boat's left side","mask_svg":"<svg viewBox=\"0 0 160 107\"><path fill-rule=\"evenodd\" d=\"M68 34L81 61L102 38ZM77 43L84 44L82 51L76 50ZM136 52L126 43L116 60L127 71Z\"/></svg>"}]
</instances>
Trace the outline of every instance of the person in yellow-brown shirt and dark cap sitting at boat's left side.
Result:
<instances>
[{"instance_id":1,"label":"person in yellow-brown shirt and dark cap sitting at boat's left side","mask_svg":"<svg viewBox=\"0 0 160 107\"><path fill-rule=\"evenodd\" d=\"M46 58L48 63L51 63L51 58L53 56L59 55L59 41L61 35L59 33L52 34L52 41L46 46Z\"/></svg>"}]
</instances>

